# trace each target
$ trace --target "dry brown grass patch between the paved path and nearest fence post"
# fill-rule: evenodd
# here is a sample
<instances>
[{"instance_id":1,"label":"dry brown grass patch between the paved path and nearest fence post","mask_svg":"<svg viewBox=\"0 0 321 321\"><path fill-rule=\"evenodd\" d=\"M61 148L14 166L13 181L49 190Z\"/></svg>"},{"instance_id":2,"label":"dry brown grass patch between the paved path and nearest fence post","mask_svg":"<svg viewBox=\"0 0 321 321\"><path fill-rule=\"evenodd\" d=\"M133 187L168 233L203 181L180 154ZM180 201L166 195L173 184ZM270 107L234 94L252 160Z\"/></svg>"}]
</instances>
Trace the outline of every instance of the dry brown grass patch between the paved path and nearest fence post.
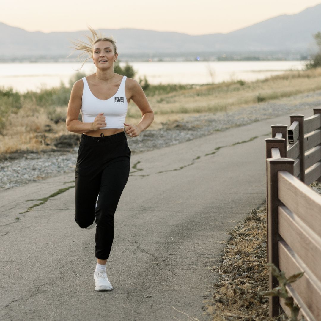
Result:
<instances>
[{"instance_id":1,"label":"dry brown grass patch between the paved path and nearest fence post","mask_svg":"<svg viewBox=\"0 0 321 321\"><path fill-rule=\"evenodd\" d=\"M268 298L258 296L268 288L266 206L253 209L230 235L222 264L212 267L219 281L212 299L204 301L205 314L213 321L277 320L268 316Z\"/></svg>"}]
</instances>

